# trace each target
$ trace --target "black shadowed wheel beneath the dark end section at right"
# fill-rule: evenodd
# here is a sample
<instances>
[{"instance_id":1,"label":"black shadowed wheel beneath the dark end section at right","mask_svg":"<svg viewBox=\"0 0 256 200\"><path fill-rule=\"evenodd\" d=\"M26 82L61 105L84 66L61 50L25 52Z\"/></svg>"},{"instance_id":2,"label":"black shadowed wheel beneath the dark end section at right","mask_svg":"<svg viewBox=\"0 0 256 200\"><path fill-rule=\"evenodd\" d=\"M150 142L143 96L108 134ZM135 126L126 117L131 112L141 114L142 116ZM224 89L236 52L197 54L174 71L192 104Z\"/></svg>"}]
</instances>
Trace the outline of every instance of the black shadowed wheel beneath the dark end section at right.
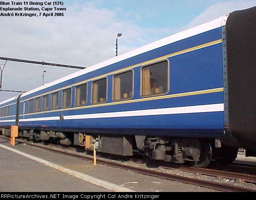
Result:
<instances>
[{"instance_id":1,"label":"black shadowed wheel beneath the dark end section at right","mask_svg":"<svg viewBox=\"0 0 256 200\"><path fill-rule=\"evenodd\" d=\"M220 165L229 165L236 160L238 148L228 147L222 144L221 148L216 148L214 159Z\"/></svg>"}]
</instances>

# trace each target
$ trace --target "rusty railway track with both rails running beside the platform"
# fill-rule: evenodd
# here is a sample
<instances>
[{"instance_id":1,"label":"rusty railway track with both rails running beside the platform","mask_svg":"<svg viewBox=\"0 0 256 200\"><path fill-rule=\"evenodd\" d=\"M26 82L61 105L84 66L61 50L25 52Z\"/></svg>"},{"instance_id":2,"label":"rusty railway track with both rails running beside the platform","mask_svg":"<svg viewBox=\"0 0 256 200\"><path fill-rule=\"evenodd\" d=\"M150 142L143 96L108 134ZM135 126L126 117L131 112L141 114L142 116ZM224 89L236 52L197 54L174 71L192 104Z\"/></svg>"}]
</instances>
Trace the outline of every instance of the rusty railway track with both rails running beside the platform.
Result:
<instances>
[{"instance_id":1,"label":"rusty railway track with both rails running beside the platform","mask_svg":"<svg viewBox=\"0 0 256 200\"><path fill-rule=\"evenodd\" d=\"M6 138L3 136L0 136L0 138L6 139L6 140L10 139L10 138ZM75 158L79 158L81 160L87 160L90 162L92 162L92 160L93 160L92 156L89 156L89 155L81 155L81 154L77 154L77 153L67 152L64 150L59 150L57 148L51 148L50 146L54 146L52 144L50 144L48 146L42 146L42 145L38 145L36 143L27 142L24 140L16 140L16 142L26 143L27 145L30 145L30 146L36 146L38 148L42 148L42 149L48 150L50 152L55 152L55 153L66 155L66 156L72 156ZM72 149L72 148L70 148L70 149ZM74 148L74 149L76 149L76 148ZM134 161L134 162L142 164L145 161L136 159L136 161ZM140 174L145 174L148 176L154 176L154 177L163 178L163 179L167 179L167 180L182 182L185 184L192 184L192 185L201 186L204 188L220 190L220 191L224 191L224 192L256 192L256 190L253 190L251 188L244 188L244 187L240 187L240 186L234 186L232 184L220 183L220 182L209 181L209 180L202 180L199 178L180 176L180 175L172 174L172 173L168 173L168 172L161 172L161 171L155 170L155 169L131 166L131 165L123 164L120 162L113 162L112 160L110 161L110 160L106 160L104 158L97 158L97 163L111 166L114 168L130 170L130 171L137 172ZM170 170L178 169L178 170L181 170L184 172L194 173L198 176L206 175L206 176L213 176L213 177L217 177L217 178L228 178L228 179L237 180L239 182L248 182L248 183L256 184L256 176L250 175L250 174L225 172L225 171L212 170L212 169L206 169L206 168L191 168L191 167L185 167L185 166L180 166L180 165L178 166L175 164L174 165L169 164L168 166L166 164L164 164L164 165L160 165L159 168L170 169Z\"/></svg>"}]
</instances>

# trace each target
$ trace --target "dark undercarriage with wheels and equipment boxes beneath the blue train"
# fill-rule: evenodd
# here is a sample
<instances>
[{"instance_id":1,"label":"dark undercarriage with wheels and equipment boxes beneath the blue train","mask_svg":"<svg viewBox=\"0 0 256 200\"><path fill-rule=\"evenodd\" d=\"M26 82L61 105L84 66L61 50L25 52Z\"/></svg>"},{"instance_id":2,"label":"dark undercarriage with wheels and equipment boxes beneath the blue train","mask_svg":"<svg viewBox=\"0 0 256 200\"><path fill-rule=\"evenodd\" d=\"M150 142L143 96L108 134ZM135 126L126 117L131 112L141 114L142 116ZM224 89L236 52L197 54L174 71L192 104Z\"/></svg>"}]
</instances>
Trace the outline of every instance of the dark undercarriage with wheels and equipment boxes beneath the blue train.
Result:
<instances>
[{"instance_id":1,"label":"dark undercarriage with wheels and equipment boxes beneath the blue train","mask_svg":"<svg viewBox=\"0 0 256 200\"><path fill-rule=\"evenodd\" d=\"M10 136L10 129L2 133ZM204 168L212 158L222 165L231 164L238 149L222 146L214 148L214 141L202 138L152 138L147 136L86 135L82 133L23 130L18 136L35 142L55 142L62 146L83 146L92 151L95 144L97 152L118 154L121 156L144 155L150 160L184 164L195 168ZM135 143L135 144L134 144ZM114 145L113 145L114 144Z\"/></svg>"}]
</instances>

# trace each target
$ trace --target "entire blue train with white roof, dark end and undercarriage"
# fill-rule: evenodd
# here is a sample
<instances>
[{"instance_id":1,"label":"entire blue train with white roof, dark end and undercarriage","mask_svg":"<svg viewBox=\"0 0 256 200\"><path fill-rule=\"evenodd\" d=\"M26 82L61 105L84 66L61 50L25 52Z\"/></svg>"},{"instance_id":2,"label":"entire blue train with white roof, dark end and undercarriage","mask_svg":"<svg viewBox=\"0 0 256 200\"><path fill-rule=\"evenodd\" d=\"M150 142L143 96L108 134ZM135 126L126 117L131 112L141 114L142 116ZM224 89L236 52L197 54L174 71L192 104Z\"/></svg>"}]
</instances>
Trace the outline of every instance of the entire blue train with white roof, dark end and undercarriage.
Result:
<instances>
[{"instance_id":1,"label":"entire blue train with white roof, dark end and undercarriage","mask_svg":"<svg viewBox=\"0 0 256 200\"><path fill-rule=\"evenodd\" d=\"M0 128L195 167L253 155L255 22L256 7L235 11L6 100Z\"/></svg>"}]
</instances>

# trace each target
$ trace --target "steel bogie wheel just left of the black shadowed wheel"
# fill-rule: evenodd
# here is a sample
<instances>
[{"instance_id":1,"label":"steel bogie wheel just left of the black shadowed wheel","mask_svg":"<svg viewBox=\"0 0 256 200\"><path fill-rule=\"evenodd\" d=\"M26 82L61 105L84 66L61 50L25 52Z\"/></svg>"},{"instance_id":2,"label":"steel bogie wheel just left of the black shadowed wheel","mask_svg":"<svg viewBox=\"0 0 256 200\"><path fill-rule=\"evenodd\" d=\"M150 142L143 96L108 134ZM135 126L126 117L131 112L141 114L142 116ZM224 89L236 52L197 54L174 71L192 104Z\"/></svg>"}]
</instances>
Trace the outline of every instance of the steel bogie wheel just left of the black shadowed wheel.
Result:
<instances>
[{"instance_id":1,"label":"steel bogie wheel just left of the black shadowed wheel","mask_svg":"<svg viewBox=\"0 0 256 200\"><path fill-rule=\"evenodd\" d=\"M210 164L212 158L212 146L208 141L202 141L200 149L200 157L198 162L190 162L190 165L195 168L204 168Z\"/></svg>"}]
</instances>

